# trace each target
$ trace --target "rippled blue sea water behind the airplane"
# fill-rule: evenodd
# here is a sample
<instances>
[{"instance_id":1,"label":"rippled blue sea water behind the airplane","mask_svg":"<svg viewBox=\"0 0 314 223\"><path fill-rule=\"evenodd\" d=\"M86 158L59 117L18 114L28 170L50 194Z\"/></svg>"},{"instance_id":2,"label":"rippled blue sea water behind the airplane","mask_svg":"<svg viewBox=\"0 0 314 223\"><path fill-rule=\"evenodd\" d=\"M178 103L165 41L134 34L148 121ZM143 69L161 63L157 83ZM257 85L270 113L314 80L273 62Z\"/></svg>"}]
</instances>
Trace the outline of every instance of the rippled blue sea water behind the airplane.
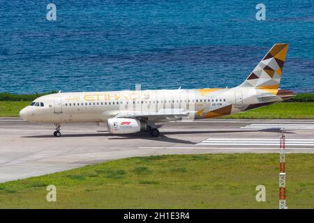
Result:
<instances>
[{"instance_id":1,"label":"rippled blue sea water behind the airplane","mask_svg":"<svg viewBox=\"0 0 314 223\"><path fill-rule=\"evenodd\" d=\"M262 1L266 21L257 3L0 0L0 92L232 87L274 43L281 89L313 92L314 1Z\"/></svg>"}]
</instances>

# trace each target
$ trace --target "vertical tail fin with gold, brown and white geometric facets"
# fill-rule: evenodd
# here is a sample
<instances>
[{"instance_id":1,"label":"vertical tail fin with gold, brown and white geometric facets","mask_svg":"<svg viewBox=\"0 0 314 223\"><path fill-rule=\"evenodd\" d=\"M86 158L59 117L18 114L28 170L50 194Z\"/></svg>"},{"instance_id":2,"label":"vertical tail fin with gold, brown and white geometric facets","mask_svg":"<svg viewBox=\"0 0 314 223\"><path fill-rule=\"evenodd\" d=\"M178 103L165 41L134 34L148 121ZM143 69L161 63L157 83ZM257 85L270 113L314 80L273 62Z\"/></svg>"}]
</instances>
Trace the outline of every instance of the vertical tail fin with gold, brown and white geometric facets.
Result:
<instances>
[{"instance_id":1,"label":"vertical tail fin with gold, brown and white geometric facets","mask_svg":"<svg viewBox=\"0 0 314 223\"><path fill-rule=\"evenodd\" d=\"M266 56L239 87L278 89L281 75L283 74L283 64L285 63L287 49L287 43L277 43L271 47Z\"/></svg>"}]
</instances>

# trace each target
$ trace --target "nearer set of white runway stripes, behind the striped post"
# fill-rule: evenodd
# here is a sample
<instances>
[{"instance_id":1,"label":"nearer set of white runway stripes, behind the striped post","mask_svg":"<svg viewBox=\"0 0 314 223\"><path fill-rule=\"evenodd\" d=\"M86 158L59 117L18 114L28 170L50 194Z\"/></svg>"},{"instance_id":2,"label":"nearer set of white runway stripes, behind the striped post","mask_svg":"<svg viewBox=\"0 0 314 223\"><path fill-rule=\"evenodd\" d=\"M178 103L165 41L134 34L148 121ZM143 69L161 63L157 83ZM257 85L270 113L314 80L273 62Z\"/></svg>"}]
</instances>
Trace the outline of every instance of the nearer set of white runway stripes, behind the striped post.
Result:
<instances>
[{"instance_id":1,"label":"nearer set of white runway stripes, behind the striped post","mask_svg":"<svg viewBox=\"0 0 314 223\"><path fill-rule=\"evenodd\" d=\"M279 146L279 139L206 139L196 145L210 146ZM286 139L285 146L313 146L314 139Z\"/></svg>"}]
</instances>

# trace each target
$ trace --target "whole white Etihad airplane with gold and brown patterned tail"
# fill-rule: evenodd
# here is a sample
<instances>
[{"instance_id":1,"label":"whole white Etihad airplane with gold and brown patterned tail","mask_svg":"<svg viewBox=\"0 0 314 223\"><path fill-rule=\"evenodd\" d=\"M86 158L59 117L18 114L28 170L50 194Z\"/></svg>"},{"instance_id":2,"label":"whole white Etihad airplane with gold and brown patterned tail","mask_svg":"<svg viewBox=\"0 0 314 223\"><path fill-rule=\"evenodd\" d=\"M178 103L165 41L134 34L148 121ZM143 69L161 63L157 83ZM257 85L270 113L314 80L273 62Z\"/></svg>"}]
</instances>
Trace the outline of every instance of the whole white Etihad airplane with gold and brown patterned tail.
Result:
<instances>
[{"instance_id":1,"label":"whole white Etihad airplane with gold and brown patterned tail","mask_svg":"<svg viewBox=\"0 0 314 223\"><path fill-rule=\"evenodd\" d=\"M160 134L156 123L184 119L216 118L293 97L279 89L288 44L275 44L239 86L225 89L171 89L71 92L44 95L20 111L34 123L54 123L54 136L61 136L61 123L105 123L111 134L149 132Z\"/></svg>"}]
</instances>

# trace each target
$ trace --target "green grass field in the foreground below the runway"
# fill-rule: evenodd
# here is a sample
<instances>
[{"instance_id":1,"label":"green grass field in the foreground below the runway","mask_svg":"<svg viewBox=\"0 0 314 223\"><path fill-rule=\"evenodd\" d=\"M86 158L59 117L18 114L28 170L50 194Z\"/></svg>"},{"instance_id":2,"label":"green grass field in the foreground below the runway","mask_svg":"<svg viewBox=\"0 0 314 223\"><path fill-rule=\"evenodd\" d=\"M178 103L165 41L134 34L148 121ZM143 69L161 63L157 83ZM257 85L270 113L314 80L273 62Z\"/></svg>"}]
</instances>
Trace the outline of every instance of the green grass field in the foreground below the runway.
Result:
<instances>
[{"instance_id":1,"label":"green grass field in the foreground below the runway","mask_svg":"<svg viewBox=\"0 0 314 223\"><path fill-rule=\"evenodd\" d=\"M0 184L0 208L278 208L278 154L133 157ZM287 206L314 208L314 154L287 154ZM46 201L46 185L57 202ZM266 202L257 202L257 185Z\"/></svg>"}]
</instances>

